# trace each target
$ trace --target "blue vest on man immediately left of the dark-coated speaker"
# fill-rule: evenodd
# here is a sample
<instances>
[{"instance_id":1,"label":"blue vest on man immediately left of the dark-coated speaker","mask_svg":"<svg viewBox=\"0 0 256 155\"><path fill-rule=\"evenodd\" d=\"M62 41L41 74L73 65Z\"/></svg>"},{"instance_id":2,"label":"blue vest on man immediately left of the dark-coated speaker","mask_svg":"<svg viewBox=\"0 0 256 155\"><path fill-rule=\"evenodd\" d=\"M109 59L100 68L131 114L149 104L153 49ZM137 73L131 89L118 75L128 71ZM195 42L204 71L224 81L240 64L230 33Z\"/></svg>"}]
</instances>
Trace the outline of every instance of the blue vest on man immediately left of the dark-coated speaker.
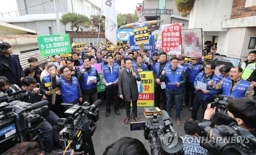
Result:
<instances>
[{"instance_id":1,"label":"blue vest on man immediately left of the dark-coated speaker","mask_svg":"<svg viewBox=\"0 0 256 155\"><path fill-rule=\"evenodd\" d=\"M119 65L114 64L113 65L113 69L112 69L112 75L111 75L111 71L109 69L109 65L104 65L102 68L104 75L105 75L105 79L107 83L110 82L115 82L116 79L118 78L118 70L119 70Z\"/></svg>"}]
</instances>

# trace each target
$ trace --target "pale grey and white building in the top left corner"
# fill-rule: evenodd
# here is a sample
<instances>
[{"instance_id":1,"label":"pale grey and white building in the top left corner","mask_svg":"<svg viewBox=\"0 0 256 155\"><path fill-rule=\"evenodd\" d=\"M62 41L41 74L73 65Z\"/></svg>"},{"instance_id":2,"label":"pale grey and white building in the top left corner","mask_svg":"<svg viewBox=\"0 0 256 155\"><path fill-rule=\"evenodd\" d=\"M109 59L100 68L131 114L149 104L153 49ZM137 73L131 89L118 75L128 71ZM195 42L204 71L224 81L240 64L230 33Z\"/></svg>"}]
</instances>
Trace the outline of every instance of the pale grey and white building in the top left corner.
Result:
<instances>
[{"instance_id":1,"label":"pale grey and white building in the top left corner","mask_svg":"<svg viewBox=\"0 0 256 155\"><path fill-rule=\"evenodd\" d=\"M39 35L58 34L55 9L52 1L17 0L16 4L18 9L15 13L16 16L2 15L0 17L1 21L35 30ZM100 10L100 7L91 0L58 0L56 5L59 19L61 19L62 14L69 12L76 12L90 18L91 15L99 14ZM72 31L69 24L66 26L60 24L60 29L61 34L65 34L65 31ZM91 28L83 28L83 31L89 30Z\"/></svg>"}]
</instances>

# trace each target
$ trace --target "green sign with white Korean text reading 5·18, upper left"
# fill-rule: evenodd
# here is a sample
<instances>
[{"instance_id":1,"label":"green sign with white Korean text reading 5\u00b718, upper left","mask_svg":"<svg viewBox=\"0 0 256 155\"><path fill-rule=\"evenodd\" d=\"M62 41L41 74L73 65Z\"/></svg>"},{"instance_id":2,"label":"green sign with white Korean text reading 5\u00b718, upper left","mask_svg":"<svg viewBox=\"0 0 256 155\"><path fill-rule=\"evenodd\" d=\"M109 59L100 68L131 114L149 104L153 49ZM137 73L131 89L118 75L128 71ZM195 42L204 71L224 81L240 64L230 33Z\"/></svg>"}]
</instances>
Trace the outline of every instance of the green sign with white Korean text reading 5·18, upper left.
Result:
<instances>
[{"instance_id":1,"label":"green sign with white Korean text reading 5\u00b718, upper left","mask_svg":"<svg viewBox=\"0 0 256 155\"><path fill-rule=\"evenodd\" d=\"M37 36L41 57L71 52L68 34Z\"/></svg>"}]
</instances>

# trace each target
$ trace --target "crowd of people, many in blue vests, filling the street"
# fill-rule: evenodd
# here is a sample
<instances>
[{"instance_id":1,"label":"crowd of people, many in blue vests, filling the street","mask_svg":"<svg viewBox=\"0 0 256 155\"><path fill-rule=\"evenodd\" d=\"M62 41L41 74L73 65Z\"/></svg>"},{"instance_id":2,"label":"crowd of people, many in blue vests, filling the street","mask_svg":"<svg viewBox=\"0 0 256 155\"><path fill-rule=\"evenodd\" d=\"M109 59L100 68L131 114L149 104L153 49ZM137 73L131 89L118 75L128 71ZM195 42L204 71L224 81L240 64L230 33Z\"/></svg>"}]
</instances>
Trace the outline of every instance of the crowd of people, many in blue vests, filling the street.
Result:
<instances>
[{"instance_id":1,"label":"crowd of people, many in blue vests, filling the street","mask_svg":"<svg viewBox=\"0 0 256 155\"><path fill-rule=\"evenodd\" d=\"M53 128L49 124L56 124L59 117L63 116L61 103L93 103L99 97L97 93L97 83L102 79L105 85L106 109L105 117L109 117L111 103L113 100L114 111L120 116L118 109L122 99L125 103L127 124L133 119L139 122L137 117L138 87L137 81L141 80L140 72L153 71L155 78L154 105L166 110L169 117L172 117L172 109L176 108L176 123L181 125L181 113L183 106L188 106L191 110L191 118L187 118L184 128L186 134L197 136L195 122L198 119L199 107L202 106L205 119L211 113L206 113L214 98L213 94L232 96L233 98L253 98L256 87L256 51L248 54L248 60L243 62L240 67L222 66L219 68L220 76L215 74L216 64L206 63L204 56L219 55L217 46L211 42L205 42L205 49L202 58L191 58L191 62L184 63L185 57L182 55L169 56L166 52L154 51L131 51L129 42L121 48L114 48L113 52L107 52L105 45L94 47L89 45L83 50L75 50L72 47L71 57L67 59L61 56L51 56L43 64L39 65L35 57L28 58L30 64L23 69L19 63L19 58L12 55L11 45L4 42L1 46L6 46L0 59L0 97L8 94L7 90L27 90L29 99L22 99L28 103L35 103L41 100L49 101L50 115L45 117L42 126L45 138L48 140L48 150L53 146ZM80 58L79 58L80 57ZM54 59L54 62L51 61ZM102 75L98 74L92 65L101 64ZM78 68L82 65L82 68ZM166 87L161 85L165 82ZM201 90L199 84L206 84L206 90ZM118 97L119 96L119 97ZM183 98L184 96L184 98ZM184 101L183 101L184 100ZM130 104L132 102L132 114ZM248 118L239 118L238 123L254 132L255 123L251 122L255 117L255 102L249 100L254 110ZM254 105L253 105L254 103ZM235 104L235 103L234 103ZM233 105L234 106L234 105ZM231 107L228 109L230 115L236 118L237 111ZM234 110L234 111L233 111ZM240 115L240 114L239 114ZM200 121L203 118L200 118ZM239 122L240 121L240 122ZM249 124L249 125L248 125ZM247 127L246 127L247 126ZM115 146L117 144L113 144ZM206 154L207 150L200 149L200 154ZM109 148L111 150L111 147ZM108 154L108 153L106 153Z\"/></svg>"}]
</instances>

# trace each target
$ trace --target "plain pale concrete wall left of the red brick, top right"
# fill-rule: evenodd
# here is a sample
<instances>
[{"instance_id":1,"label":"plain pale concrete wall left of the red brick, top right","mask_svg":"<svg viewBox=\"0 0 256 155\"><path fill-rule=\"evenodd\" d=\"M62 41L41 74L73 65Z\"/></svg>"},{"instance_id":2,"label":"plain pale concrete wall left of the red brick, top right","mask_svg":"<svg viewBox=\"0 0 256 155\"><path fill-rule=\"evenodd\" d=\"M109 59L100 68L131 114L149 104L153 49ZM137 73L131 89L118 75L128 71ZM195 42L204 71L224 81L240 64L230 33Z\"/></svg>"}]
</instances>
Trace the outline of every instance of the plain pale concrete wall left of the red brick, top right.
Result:
<instances>
[{"instance_id":1,"label":"plain pale concrete wall left of the red brick, top right","mask_svg":"<svg viewBox=\"0 0 256 155\"><path fill-rule=\"evenodd\" d=\"M231 0L196 0L190 12L189 29L203 28L203 31L228 31L222 29L223 20L229 19L232 10Z\"/></svg>"}]
</instances>

